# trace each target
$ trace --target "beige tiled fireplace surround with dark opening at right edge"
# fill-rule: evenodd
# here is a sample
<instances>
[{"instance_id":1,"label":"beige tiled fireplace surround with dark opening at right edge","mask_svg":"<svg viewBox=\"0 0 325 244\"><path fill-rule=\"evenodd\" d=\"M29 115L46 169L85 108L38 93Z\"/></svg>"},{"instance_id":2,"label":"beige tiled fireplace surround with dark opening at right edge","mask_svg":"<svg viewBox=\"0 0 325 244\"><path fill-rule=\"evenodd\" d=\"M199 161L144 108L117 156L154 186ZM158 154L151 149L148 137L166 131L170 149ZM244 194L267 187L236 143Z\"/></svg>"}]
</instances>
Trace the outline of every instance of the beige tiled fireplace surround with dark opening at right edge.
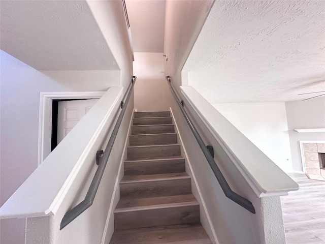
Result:
<instances>
[{"instance_id":1,"label":"beige tiled fireplace surround with dark opening at right edge","mask_svg":"<svg viewBox=\"0 0 325 244\"><path fill-rule=\"evenodd\" d=\"M309 178L325 180L325 143L302 142L302 159Z\"/></svg>"}]
</instances>

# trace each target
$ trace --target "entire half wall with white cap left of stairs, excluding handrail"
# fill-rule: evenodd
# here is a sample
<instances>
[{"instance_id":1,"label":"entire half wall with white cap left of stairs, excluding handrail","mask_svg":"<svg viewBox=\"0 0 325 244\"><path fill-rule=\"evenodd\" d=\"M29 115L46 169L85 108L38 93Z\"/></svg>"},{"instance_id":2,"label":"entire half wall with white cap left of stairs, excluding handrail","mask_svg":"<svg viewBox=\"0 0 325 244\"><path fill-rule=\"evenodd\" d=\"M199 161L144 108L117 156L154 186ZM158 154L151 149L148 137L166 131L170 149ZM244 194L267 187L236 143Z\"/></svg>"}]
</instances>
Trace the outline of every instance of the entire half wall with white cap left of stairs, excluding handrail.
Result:
<instances>
[{"instance_id":1,"label":"entire half wall with white cap left of stairs, excluding handrail","mask_svg":"<svg viewBox=\"0 0 325 244\"><path fill-rule=\"evenodd\" d=\"M107 169L93 205L87 211L60 230L62 217L85 198L99 167L96 165L96 152L106 147L119 120L121 101L126 94L123 87L110 87L0 208L0 219L26 219L26 243L101 242L107 228L113 182L124 157L122 145L134 106L131 88L129 93L132 93L132 98L116 136Z\"/></svg>"}]
</instances>

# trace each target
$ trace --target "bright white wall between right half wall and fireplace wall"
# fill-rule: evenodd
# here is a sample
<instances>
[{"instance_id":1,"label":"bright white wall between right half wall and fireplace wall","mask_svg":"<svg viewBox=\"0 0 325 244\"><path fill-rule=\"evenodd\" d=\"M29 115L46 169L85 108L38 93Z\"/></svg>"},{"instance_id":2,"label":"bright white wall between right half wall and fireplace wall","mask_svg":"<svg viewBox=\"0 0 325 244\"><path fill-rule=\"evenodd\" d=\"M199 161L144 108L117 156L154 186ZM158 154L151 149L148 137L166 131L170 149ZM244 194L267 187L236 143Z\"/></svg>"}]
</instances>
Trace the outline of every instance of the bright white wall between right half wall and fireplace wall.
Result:
<instances>
[{"instance_id":1,"label":"bright white wall between right half wall and fireplace wall","mask_svg":"<svg viewBox=\"0 0 325 244\"><path fill-rule=\"evenodd\" d=\"M212 105L283 171L293 171L284 103Z\"/></svg>"}]
</instances>

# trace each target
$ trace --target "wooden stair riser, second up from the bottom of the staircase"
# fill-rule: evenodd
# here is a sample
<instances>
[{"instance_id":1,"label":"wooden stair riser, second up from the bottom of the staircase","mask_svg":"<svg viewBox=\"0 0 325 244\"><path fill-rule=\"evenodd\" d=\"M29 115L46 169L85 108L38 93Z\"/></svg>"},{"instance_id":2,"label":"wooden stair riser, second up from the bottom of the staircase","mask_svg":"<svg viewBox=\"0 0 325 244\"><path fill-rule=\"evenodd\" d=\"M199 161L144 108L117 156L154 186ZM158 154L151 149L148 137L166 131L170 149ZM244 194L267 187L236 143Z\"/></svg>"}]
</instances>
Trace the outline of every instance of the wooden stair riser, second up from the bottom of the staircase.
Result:
<instances>
[{"instance_id":1,"label":"wooden stair riser, second up from the bottom of the staircase","mask_svg":"<svg viewBox=\"0 0 325 244\"><path fill-rule=\"evenodd\" d=\"M190 178L120 183L120 197L124 199L185 194L191 194Z\"/></svg>"}]
</instances>

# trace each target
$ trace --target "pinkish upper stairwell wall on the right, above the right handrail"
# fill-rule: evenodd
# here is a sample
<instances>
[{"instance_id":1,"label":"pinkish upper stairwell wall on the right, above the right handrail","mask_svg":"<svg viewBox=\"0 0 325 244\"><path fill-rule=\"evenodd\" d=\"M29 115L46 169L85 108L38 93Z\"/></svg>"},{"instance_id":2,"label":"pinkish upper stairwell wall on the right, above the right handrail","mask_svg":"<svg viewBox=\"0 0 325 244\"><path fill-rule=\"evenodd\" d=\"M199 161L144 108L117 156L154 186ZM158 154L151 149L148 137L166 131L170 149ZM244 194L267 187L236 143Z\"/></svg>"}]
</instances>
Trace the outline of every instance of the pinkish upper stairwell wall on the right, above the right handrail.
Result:
<instances>
[{"instance_id":1,"label":"pinkish upper stairwell wall on the right, above the right handrail","mask_svg":"<svg viewBox=\"0 0 325 244\"><path fill-rule=\"evenodd\" d=\"M202 26L214 1L166 1L164 53L165 76L170 76L172 84L179 92L181 70L197 40Z\"/></svg>"}]
</instances>

